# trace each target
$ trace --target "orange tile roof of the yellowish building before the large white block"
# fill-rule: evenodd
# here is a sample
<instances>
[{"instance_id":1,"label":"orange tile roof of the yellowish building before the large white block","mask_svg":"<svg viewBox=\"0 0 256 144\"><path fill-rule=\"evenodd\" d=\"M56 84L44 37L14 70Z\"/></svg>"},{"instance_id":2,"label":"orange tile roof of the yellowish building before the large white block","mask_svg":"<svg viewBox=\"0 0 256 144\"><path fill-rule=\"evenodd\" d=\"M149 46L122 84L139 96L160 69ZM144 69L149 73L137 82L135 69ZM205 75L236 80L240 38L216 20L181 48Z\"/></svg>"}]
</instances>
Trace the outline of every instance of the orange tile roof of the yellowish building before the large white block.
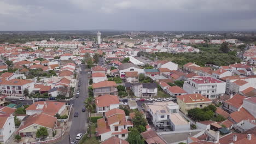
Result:
<instances>
[{"instance_id":1,"label":"orange tile roof of the yellowish building before the large white block","mask_svg":"<svg viewBox=\"0 0 256 144\"><path fill-rule=\"evenodd\" d=\"M185 94L178 95L178 99L184 101L184 103L211 103L212 101L201 94Z\"/></svg>"}]
</instances>

